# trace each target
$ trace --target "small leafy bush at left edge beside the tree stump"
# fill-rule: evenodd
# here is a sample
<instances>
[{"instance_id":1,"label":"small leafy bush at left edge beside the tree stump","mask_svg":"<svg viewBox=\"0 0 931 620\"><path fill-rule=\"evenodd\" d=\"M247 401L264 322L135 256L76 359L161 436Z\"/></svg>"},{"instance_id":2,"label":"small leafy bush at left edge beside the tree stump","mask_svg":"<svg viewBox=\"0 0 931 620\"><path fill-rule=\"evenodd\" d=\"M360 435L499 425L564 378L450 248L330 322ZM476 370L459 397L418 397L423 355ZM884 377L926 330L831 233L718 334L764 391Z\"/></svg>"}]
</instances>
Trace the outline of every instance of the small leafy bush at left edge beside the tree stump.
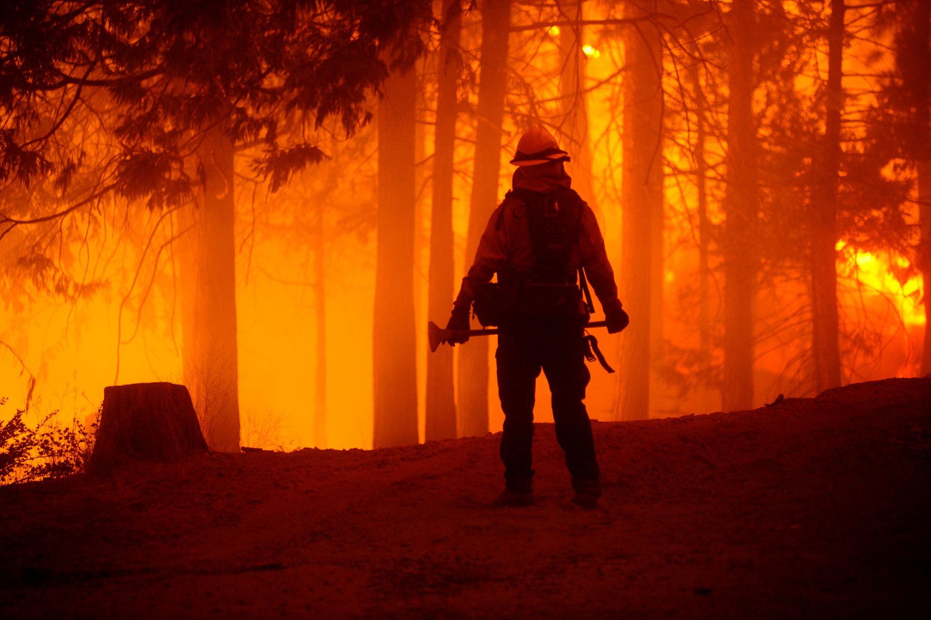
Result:
<instances>
[{"instance_id":1,"label":"small leafy bush at left edge beside the tree stump","mask_svg":"<svg viewBox=\"0 0 931 620\"><path fill-rule=\"evenodd\" d=\"M4 405L7 398L0 398ZM55 425L52 411L34 428L17 410L7 423L0 423L0 485L43 478L64 478L85 470L93 451L98 416L88 427L76 417L72 425Z\"/></svg>"}]
</instances>

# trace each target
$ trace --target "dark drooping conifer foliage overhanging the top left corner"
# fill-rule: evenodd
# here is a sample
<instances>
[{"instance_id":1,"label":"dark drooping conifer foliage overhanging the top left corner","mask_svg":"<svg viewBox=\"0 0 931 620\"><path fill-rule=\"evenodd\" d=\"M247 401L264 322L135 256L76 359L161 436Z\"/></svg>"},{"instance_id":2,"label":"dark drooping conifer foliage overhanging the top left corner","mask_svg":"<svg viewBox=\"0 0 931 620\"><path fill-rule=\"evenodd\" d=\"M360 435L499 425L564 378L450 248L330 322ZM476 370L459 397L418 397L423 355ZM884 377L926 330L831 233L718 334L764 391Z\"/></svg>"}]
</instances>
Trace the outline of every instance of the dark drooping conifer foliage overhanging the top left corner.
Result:
<instances>
[{"instance_id":1,"label":"dark drooping conifer foliage overhanging the top left corner","mask_svg":"<svg viewBox=\"0 0 931 620\"><path fill-rule=\"evenodd\" d=\"M119 143L113 179L129 198L153 208L186 200L196 182L186 160L221 119L234 142L263 145L254 167L277 188L323 156L293 132L282 141L282 128L335 116L351 133L368 122L368 98L388 65L409 65L420 52L402 26L428 9L423 1L14 0L3 26L0 102L9 115L0 180L64 182L80 159L77 147L52 148L65 119L112 111L98 119Z\"/></svg>"}]
</instances>

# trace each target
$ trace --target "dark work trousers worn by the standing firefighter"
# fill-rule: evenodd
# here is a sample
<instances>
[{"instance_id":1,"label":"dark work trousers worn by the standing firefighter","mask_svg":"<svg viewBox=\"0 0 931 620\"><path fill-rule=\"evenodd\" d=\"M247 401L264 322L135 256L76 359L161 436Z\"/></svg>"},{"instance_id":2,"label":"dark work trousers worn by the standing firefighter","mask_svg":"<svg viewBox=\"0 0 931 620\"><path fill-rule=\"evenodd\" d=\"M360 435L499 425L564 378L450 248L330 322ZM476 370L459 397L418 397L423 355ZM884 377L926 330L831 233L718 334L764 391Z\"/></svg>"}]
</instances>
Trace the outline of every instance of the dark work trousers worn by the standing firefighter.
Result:
<instances>
[{"instance_id":1,"label":"dark work trousers worn by the standing firefighter","mask_svg":"<svg viewBox=\"0 0 931 620\"><path fill-rule=\"evenodd\" d=\"M533 401L543 369L552 394L556 438L576 490L597 488L599 479L591 423L583 399L590 379L584 331L565 319L508 321L500 326L498 395L505 411L501 460L508 489L529 492L533 478Z\"/></svg>"}]
</instances>

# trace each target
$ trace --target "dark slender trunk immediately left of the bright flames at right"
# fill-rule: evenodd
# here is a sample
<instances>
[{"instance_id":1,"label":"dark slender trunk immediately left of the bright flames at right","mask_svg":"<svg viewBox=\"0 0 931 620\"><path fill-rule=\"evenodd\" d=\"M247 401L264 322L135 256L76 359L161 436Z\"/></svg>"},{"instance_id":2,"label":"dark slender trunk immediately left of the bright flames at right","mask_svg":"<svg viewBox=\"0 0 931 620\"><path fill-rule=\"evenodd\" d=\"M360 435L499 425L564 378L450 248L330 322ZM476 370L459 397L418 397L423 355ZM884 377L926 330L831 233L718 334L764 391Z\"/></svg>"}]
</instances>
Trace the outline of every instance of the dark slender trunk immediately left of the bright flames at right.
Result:
<instances>
[{"instance_id":1,"label":"dark slender trunk immediately left of the bright flames at right","mask_svg":"<svg viewBox=\"0 0 931 620\"><path fill-rule=\"evenodd\" d=\"M822 174L812 204L812 348L818 392L841 384L837 309L837 185L841 167L843 107L843 0L831 0L828 92Z\"/></svg>"}]
</instances>

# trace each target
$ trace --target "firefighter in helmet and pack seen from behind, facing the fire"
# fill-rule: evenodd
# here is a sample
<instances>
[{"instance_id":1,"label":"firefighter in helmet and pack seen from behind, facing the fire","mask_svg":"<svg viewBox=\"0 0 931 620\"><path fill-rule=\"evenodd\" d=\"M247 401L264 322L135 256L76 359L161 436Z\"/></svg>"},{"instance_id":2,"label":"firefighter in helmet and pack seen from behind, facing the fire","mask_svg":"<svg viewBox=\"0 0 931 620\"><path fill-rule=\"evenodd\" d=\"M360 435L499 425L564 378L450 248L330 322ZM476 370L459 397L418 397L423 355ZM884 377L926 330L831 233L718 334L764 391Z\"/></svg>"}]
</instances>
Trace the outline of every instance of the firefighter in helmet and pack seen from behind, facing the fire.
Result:
<instances>
[{"instance_id":1,"label":"firefighter in helmet and pack seen from behind, facing the fire","mask_svg":"<svg viewBox=\"0 0 931 620\"><path fill-rule=\"evenodd\" d=\"M583 403L590 378L583 326L592 311L580 290L586 278L604 309L609 333L626 328L629 319L617 298L595 214L573 191L563 167L569 160L544 128L532 128L520 138L511 160L517 166L513 188L492 213L447 324L449 330L468 330L476 302L480 322L499 327L495 358L505 412L505 490L495 500L498 505L533 503L533 397L541 369L552 394L556 437L573 478L573 502L594 508L601 494ZM497 283L490 283L495 274ZM467 340L461 335L451 344Z\"/></svg>"}]
</instances>

